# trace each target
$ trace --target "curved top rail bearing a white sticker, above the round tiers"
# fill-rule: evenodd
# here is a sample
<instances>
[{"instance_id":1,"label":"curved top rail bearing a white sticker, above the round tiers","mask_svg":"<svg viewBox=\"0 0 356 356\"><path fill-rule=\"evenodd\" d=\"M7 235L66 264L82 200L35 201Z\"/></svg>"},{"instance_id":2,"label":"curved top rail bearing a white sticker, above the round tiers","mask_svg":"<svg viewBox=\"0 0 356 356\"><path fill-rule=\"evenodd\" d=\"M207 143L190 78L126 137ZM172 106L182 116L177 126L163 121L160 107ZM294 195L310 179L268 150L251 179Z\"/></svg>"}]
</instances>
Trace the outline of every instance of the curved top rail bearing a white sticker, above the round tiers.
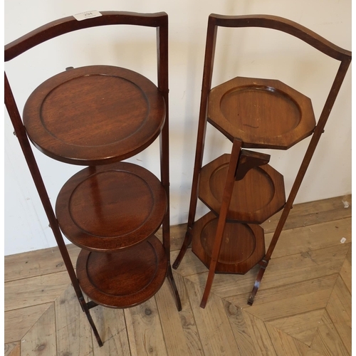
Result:
<instances>
[{"instance_id":1,"label":"curved top rail bearing a white sticker, above the round tiers","mask_svg":"<svg viewBox=\"0 0 356 356\"><path fill-rule=\"evenodd\" d=\"M36 30L8 43L5 46L4 60L6 62L11 61L11 59L40 43L82 28L105 25L137 25L148 27L159 27L164 24L168 25L168 16L165 12L140 14L128 11L100 11L100 14L102 14L102 16L85 19L83 21L78 21L73 16L68 16L46 23L46 25L38 27Z\"/></svg>"}]
</instances>

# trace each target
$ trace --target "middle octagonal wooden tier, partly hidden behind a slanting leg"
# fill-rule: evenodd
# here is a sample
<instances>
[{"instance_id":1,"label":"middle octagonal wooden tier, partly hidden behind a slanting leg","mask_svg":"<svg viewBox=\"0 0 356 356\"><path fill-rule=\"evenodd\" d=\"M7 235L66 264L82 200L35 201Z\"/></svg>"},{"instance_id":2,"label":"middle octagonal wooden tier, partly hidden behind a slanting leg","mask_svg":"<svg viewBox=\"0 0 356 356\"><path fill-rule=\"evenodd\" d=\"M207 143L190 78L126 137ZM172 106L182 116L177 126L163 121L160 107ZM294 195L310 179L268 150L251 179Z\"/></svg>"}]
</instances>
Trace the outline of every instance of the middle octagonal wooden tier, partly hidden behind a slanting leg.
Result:
<instances>
[{"instance_id":1,"label":"middle octagonal wooden tier, partly hidden behind a slanting leg","mask_svg":"<svg viewBox=\"0 0 356 356\"><path fill-rule=\"evenodd\" d=\"M222 155L201 169L199 199L219 214L231 155ZM286 203L283 175L269 164L250 169L234 183L227 219L262 224Z\"/></svg>"}]
</instances>

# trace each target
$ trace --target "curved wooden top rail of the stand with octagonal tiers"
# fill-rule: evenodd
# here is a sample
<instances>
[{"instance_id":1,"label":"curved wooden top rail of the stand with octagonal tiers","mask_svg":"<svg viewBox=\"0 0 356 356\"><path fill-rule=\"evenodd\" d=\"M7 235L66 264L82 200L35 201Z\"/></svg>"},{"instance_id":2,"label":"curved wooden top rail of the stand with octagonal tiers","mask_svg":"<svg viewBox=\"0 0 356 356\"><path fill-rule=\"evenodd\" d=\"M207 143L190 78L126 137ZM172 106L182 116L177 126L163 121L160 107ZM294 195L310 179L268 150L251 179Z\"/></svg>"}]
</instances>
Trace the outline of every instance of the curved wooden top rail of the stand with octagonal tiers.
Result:
<instances>
[{"instance_id":1,"label":"curved wooden top rail of the stand with octagonal tiers","mask_svg":"<svg viewBox=\"0 0 356 356\"><path fill-rule=\"evenodd\" d=\"M212 21L215 26L221 27L264 27L272 28L278 31L289 33L292 36L300 38L302 41L310 44L314 48L325 53L326 55L343 61L351 59L351 52L347 51L334 43L326 40L318 33L315 33L305 26L294 21L284 19L280 16L271 15L243 15L243 16L225 16L211 14L209 21Z\"/></svg>"}]
</instances>

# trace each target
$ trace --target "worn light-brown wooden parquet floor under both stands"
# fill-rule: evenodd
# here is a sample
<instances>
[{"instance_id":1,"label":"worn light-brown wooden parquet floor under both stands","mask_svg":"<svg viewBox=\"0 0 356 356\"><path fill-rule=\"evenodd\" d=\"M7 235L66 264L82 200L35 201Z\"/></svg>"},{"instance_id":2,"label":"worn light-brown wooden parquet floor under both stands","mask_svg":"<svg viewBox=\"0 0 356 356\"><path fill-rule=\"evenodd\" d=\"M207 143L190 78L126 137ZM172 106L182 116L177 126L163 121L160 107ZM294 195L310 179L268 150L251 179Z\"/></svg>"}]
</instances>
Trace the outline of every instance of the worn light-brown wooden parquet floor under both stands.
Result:
<instances>
[{"instance_id":1,"label":"worn light-brown wooden parquet floor under both stands","mask_svg":"<svg viewBox=\"0 0 356 356\"><path fill-rule=\"evenodd\" d=\"M351 355L350 217L350 196L295 205L253 306L256 268L216 275L199 308L207 270L189 249L174 271L183 310L167 281L135 308L93 308L101 348L57 248L6 256L5 355ZM277 220L263 224L267 246ZM183 236L172 227L172 261Z\"/></svg>"}]
</instances>

